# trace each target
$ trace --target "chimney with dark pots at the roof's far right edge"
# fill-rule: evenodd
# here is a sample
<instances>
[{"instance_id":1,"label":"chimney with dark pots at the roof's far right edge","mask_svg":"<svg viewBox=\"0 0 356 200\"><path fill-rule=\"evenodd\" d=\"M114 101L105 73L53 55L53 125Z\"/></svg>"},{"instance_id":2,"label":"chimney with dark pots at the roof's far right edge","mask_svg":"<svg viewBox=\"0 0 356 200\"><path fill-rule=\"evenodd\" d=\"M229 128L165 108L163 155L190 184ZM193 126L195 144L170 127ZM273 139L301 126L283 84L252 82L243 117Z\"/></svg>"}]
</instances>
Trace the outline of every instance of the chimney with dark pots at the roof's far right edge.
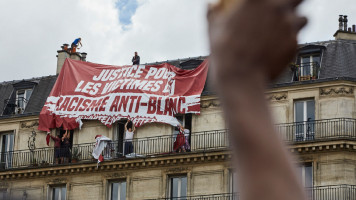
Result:
<instances>
[{"instance_id":1,"label":"chimney with dark pots at the roof's far right edge","mask_svg":"<svg viewBox=\"0 0 356 200\"><path fill-rule=\"evenodd\" d=\"M334 34L335 40L354 40L356 41L356 27L347 27L347 15L339 15L339 30Z\"/></svg>"}]
</instances>

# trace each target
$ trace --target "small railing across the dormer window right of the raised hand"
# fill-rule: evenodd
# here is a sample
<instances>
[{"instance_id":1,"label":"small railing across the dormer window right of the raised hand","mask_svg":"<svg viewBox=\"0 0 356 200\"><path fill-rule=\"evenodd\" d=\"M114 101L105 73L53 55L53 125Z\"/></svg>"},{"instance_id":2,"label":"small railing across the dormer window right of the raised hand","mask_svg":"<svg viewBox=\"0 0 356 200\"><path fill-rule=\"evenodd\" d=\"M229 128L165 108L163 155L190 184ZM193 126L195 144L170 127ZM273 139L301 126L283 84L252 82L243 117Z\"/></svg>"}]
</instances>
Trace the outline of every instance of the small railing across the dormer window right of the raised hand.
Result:
<instances>
[{"instance_id":1,"label":"small railing across the dormer window right of the raised hand","mask_svg":"<svg viewBox=\"0 0 356 200\"><path fill-rule=\"evenodd\" d=\"M294 72L294 81L308 81L319 78L320 64L318 62L293 64L291 68Z\"/></svg>"}]
</instances>

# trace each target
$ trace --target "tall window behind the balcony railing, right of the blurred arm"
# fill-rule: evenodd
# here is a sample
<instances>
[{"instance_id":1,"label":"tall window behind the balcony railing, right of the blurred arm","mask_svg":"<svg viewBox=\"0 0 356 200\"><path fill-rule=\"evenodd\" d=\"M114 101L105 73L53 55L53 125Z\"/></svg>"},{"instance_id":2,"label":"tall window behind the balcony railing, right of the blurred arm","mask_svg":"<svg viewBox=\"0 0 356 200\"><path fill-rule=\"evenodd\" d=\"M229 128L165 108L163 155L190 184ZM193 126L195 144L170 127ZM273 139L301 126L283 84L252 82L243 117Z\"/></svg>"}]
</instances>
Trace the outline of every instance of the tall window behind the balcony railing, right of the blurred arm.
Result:
<instances>
[{"instance_id":1,"label":"tall window behind the balcony railing, right of the blurred arm","mask_svg":"<svg viewBox=\"0 0 356 200\"><path fill-rule=\"evenodd\" d=\"M314 140L315 102L314 100L296 101L294 103L296 140Z\"/></svg>"}]
</instances>

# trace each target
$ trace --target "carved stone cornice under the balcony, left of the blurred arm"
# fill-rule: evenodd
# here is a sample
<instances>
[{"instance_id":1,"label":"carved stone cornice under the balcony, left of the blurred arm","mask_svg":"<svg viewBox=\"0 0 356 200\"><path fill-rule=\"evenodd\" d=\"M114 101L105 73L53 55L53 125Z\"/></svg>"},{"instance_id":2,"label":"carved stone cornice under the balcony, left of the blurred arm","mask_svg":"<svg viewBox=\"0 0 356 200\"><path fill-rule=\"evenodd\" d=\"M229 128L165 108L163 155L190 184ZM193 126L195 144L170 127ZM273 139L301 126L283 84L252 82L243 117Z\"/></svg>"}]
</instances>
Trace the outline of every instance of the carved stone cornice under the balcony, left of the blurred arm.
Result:
<instances>
[{"instance_id":1,"label":"carved stone cornice under the balcony, left of the blurred arm","mask_svg":"<svg viewBox=\"0 0 356 200\"><path fill-rule=\"evenodd\" d=\"M118 170L133 170L145 168L162 168L185 165L193 165L208 162L226 162L231 158L230 151L220 150L205 153L187 153L177 154L174 156L140 158L124 161L106 161L97 168L96 163L78 163L66 166L52 166L43 168L26 168L13 169L0 172L0 182L2 180L16 180L29 178L48 178L65 175L85 174L85 173L102 173L118 172ZM121 176L118 174L117 176Z\"/></svg>"}]
</instances>

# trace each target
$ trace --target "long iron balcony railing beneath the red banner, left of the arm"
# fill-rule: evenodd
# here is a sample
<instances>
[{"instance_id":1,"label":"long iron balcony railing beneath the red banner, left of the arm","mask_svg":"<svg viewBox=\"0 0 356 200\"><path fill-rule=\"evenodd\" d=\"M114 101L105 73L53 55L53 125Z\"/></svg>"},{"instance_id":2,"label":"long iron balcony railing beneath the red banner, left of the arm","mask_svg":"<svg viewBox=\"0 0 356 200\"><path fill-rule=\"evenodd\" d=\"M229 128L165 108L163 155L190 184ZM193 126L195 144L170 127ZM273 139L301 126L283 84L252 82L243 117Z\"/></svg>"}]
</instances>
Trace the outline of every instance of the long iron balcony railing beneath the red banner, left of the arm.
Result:
<instances>
[{"instance_id":1,"label":"long iron balcony railing beneath the red banner, left of the arm","mask_svg":"<svg viewBox=\"0 0 356 200\"><path fill-rule=\"evenodd\" d=\"M190 149L184 149L181 152L173 150L175 137L172 135L134 139L132 141L134 153L131 154L125 153L125 142L125 140L121 140L108 144L103 151L104 160L125 160L226 150L228 148L228 135L225 129L192 133L190 136ZM69 162L62 165L73 164L77 161L80 163L96 162L91 155L94 145L95 143L73 145L70 149ZM56 164L53 147L39 148L32 151L18 150L0 153L0 170L54 165L61 164Z\"/></svg>"}]
</instances>

